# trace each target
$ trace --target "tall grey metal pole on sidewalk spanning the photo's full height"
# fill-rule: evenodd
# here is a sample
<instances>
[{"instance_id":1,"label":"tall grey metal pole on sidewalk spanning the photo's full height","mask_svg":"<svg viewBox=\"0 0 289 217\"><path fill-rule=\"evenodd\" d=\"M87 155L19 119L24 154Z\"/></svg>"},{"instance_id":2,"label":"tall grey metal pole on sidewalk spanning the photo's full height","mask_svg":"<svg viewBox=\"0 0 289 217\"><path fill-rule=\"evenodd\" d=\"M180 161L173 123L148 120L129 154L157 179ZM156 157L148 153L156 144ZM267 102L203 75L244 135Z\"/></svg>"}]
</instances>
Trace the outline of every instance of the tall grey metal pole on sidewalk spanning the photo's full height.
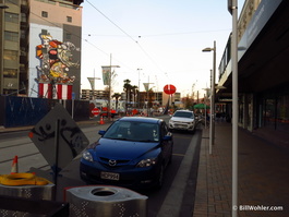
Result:
<instances>
[{"instance_id":1,"label":"tall grey metal pole on sidewalk spanning the photo's full height","mask_svg":"<svg viewBox=\"0 0 289 217\"><path fill-rule=\"evenodd\" d=\"M238 2L232 0L232 217L238 216Z\"/></svg>"}]
</instances>

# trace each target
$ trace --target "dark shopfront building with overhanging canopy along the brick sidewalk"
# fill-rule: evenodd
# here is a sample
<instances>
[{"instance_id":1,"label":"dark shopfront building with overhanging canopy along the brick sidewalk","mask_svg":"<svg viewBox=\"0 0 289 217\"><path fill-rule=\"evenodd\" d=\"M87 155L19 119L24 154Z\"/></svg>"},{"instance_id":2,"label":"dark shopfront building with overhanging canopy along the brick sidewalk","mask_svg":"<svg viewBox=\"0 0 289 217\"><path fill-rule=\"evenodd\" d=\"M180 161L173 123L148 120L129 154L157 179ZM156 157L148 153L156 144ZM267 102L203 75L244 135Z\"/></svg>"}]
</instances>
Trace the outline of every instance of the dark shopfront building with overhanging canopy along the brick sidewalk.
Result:
<instances>
[{"instance_id":1,"label":"dark shopfront building with overhanging canopy along the brick sidewalk","mask_svg":"<svg viewBox=\"0 0 289 217\"><path fill-rule=\"evenodd\" d=\"M239 125L289 147L289 2L248 0L239 19ZM244 21L245 20L245 21ZM230 38L220 67L218 100L231 96ZM227 103L227 114L231 116Z\"/></svg>"}]
</instances>

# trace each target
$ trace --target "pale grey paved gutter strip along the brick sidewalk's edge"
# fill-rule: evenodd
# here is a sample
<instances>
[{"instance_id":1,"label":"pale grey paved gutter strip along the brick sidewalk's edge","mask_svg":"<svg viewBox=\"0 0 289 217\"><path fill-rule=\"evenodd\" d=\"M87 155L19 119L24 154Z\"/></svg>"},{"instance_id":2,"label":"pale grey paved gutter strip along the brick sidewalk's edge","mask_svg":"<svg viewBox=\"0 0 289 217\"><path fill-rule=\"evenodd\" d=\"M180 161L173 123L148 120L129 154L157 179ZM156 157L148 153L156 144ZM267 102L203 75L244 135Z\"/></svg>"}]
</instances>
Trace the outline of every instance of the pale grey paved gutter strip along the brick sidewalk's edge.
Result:
<instances>
[{"instance_id":1,"label":"pale grey paved gutter strip along the brick sidewalk's edge","mask_svg":"<svg viewBox=\"0 0 289 217\"><path fill-rule=\"evenodd\" d=\"M192 167L193 156L195 146L198 136L193 136L190 142L190 145L186 149L186 153L180 165L171 188L158 212L157 217L178 217L180 214L182 198L186 185L186 180L189 179L190 170Z\"/></svg>"}]
</instances>

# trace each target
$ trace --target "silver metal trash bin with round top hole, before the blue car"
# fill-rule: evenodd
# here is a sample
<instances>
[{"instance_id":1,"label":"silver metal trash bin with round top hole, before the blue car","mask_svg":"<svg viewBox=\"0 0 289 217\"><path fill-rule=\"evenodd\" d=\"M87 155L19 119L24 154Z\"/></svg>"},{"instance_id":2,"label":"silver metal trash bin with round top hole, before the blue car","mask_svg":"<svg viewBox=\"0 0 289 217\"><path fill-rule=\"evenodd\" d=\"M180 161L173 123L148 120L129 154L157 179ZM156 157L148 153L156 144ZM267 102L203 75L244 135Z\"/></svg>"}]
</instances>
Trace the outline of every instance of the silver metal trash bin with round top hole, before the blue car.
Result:
<instances>
[{"instance_id":1,"label":"silver metal trash bin with round top hole, before the blue car","mask_svg":"<svg viewBox=\"0 0 289 217\"><path fill-rule=\"evenodd\" d=\"M87 185L65 190L70 217L146 217L147 196L107 185Z\"/></svg>"}]
</instances>

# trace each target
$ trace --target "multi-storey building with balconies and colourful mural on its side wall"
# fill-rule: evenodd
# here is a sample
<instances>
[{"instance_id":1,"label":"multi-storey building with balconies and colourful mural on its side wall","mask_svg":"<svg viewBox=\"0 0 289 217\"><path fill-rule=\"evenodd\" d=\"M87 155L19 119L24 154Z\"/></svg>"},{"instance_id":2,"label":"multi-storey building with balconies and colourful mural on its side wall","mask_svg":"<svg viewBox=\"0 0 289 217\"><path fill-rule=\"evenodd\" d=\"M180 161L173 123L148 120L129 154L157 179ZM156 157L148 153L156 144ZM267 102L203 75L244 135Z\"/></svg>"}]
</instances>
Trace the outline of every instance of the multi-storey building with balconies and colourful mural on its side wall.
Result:
<instances>
[{"instance_id":1,"label":"multi-storey building with balconies and colourful mural on its side wall","mask_svg":"<svg viewBox=\"0 0 289 217\"><path fill-rule=\"evenodd\" d=\"M82 2L2 0L8 7L0 9L2 95L65 98L67 85L79 98Z\"/></svg>"}]
</instances>

